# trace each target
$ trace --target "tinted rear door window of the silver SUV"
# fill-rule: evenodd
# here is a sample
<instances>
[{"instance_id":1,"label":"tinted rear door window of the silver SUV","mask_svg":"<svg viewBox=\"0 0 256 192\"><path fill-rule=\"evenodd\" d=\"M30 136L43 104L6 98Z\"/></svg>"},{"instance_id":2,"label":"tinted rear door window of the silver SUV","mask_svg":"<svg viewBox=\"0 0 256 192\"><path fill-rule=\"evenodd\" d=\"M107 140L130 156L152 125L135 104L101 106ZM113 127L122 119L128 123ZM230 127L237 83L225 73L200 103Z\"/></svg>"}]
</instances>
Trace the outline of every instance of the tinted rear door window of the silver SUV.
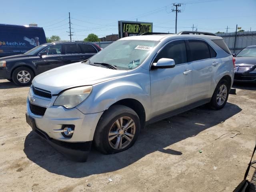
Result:
<instances>
[{"instance_id":1,"label":"tinted rear door window of the silver SUV","mask_svg":"<svg viewBox=\"0 0 256 192\"><path fill-rule=\"evenodd\" d=\"M211 58L209 46L202 40L188 40L191 57L190 61Z\"/></svg>"}]
</instances>

